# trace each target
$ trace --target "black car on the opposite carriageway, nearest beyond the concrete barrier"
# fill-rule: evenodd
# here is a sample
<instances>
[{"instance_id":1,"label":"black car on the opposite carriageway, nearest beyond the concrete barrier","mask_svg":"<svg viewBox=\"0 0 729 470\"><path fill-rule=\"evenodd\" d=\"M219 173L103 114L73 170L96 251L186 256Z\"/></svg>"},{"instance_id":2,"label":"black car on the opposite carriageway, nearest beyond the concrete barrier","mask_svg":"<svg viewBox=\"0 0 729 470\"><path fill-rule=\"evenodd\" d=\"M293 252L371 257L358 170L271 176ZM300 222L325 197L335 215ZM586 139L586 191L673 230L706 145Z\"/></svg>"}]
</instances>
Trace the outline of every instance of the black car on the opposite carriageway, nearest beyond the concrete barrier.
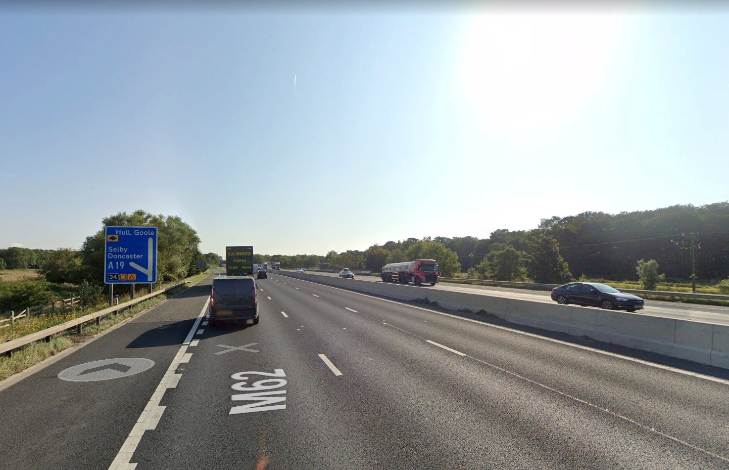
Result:
<instances>
[{"instance_id":1,"label":"black car on the opposite carriageway, nearest beyond the concrete barrier","mask_svg":"<svg viewBox=\"0 0 729 470\"><path fill-rule=\"evenodd\" d=\"M642 310L644 301L637 295L626 294L599 282L572 282L552 290L552 300L567 305L596 306L607 310Z\"/></svg>"}]
</instances>

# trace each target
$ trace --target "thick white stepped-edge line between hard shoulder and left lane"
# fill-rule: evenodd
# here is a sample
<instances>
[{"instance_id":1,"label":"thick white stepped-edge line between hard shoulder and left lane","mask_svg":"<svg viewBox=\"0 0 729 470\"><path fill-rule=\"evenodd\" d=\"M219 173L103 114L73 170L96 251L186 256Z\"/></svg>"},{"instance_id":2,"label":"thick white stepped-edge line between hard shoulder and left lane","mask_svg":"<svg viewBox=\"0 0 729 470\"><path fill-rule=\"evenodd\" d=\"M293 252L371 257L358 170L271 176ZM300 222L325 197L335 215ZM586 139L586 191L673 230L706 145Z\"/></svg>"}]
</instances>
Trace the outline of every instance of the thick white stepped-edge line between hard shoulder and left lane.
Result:
<instances>
[{"instance_id":1,"label":"thick white stepped-edge line between hard shoulder and left lane","mask_svg":"<svg viewBox=\"0 0 729 470\"><path fill-rule=\"evenodd\" d=\"M167 372L165 372L165 375L163 375L160 384L155 390L155 393L153 393L152 397L149 398L147 406L144 407L144 411L142 411L141 415L139 415L139 420L137 420L136 424L130 431L127 439L124 441L124 444L122 444L122 448L119 450L117 456L114 458L112 465L109 466L109 470L134 470L136 468L137 464L130 463L130 460L132 459L134 451L139 445L139 441L141 441L142 436L144 436L144 431L152 431L157 428L157 423L160 422L160 418L162 418L162 413L165 412L165 406L160 405L162 397L167 389L176 388L177 384L180 381L180 378L182 378L182 374L176 373L179 365L183 364L184 362L190 362L192 353L188 353L186 351L188 347L196 346L198 344L198 340L192 340L192 336L198 334L195 333L195 330L198 330L200 321L203 319L203 315L205 315L205 312L208 309L209 302L210 299L208 298L208 300L206 300L205 302L205 305L203 306L203 309L200 311L198 318L195 319L195 323L192 324L190 332L187 333L187 338L185 338L182 346L180 346L179 348L179 351L177 351L176 356L174 357L174 359L172 359L170 367L167 368ZM198 330L198 332L200 331L204 330ZM193 342L195 342L195 344L193 344Z\"/></svg>"}]
</instances>

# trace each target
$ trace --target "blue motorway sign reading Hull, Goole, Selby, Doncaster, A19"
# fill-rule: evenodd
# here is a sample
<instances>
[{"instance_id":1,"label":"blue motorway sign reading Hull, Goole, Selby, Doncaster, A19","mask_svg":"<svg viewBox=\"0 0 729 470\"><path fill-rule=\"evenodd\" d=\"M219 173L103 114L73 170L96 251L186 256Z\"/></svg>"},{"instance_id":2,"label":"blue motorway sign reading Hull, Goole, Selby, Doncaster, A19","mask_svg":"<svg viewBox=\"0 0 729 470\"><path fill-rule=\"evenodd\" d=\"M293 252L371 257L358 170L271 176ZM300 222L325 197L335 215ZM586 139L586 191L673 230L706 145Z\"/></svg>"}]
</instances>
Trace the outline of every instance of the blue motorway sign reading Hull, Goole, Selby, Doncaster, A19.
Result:
<instances>
[{"instance_id":1,"label":"blue motorway sign reading Hull, Goole, Selby, Doncaster, A19","mask_svg":"<svg viewBox=\"0 0 729 470\"><path fill-rule=\"evenodd\" d=\"M157 227L106 227L104 282L157 282Z\"/></svg>"}]
</instances>

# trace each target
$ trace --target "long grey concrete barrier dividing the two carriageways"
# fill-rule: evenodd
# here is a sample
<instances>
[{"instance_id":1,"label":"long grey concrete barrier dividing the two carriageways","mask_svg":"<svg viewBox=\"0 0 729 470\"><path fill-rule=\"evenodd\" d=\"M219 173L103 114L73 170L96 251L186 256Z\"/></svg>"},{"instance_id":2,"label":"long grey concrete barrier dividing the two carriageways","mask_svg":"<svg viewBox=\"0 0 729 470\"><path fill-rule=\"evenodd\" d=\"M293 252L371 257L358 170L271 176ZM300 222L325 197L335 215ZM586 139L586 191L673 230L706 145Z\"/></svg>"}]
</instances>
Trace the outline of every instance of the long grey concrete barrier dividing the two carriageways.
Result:
<instances>
[{"instance_id":1,"label":"long grey concrete barrier dividing the two carriageways","mask_svg":"<svg viewBox=\"0 0 729 470\"><path fill-rule=\"evenodd\" d=\"M725 325L516 300L488 295L483 291L454 292L430 286L370 282L312 273L281 274L399 300L428 300L453 310L483 310L515 324L588 336L605 343L729 369L729 326Z\"/></svg>"}]
</instances>

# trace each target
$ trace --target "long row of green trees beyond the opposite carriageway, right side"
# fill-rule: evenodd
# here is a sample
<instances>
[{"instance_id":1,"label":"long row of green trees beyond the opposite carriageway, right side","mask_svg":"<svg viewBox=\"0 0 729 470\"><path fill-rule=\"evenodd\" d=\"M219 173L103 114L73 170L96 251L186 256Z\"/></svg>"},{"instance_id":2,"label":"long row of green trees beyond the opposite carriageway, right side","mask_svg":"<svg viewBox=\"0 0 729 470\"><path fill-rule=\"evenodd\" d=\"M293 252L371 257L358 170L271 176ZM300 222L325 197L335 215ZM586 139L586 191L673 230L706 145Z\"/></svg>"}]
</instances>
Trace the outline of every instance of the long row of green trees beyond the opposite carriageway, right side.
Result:
<instances>
[{"instance_id":1,"label":"long row of green trees beyond the opposite carriageway, right side","mask_svg":"<svg viewBox=\"0 0 729 470\"><path fill-rule=\"evenodd\" d=\"M655 260L664 279L692 274L706 282L729 277L729 202L676 205L655 210L582 212L542 219L537 228L474 236L427 236L373 244L367 250L326 255L256 255L284 268L367 269L386 263L433 258L443 276L561 284L587 277L639 279L639 262Z\"/></svg>"}]
</instances>

